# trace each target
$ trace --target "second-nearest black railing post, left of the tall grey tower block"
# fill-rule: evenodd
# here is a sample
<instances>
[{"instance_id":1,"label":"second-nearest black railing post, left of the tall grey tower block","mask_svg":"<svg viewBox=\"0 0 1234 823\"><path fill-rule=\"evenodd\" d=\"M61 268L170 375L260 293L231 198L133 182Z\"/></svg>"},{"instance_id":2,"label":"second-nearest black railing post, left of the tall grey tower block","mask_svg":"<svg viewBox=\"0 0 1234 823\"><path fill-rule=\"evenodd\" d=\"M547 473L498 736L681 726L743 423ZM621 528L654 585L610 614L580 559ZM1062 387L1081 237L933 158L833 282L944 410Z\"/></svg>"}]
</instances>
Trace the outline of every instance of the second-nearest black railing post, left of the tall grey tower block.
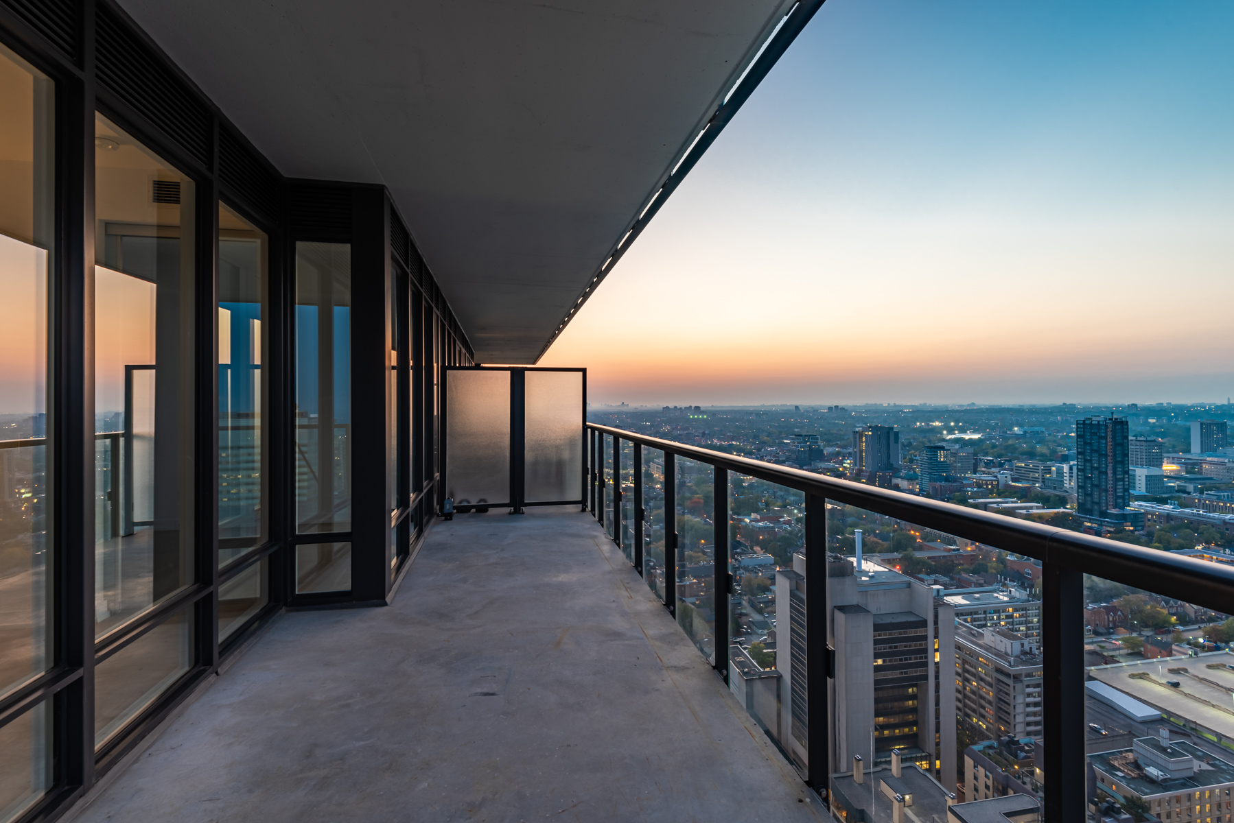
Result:
<instances>
[{"instance_id":1,"label":"second-nearest black railing post, left of the tall grey tower block","mask_svg":"<svg viewBox=\"0 0 1234 823\"><path fill-rule=\"evenodd\" d=\"M830 775L830 721L827 643L827 500L806 495L806 769L824 798ZM828 807L830 802L828 800Z\"/></svg>"}]
</instances>

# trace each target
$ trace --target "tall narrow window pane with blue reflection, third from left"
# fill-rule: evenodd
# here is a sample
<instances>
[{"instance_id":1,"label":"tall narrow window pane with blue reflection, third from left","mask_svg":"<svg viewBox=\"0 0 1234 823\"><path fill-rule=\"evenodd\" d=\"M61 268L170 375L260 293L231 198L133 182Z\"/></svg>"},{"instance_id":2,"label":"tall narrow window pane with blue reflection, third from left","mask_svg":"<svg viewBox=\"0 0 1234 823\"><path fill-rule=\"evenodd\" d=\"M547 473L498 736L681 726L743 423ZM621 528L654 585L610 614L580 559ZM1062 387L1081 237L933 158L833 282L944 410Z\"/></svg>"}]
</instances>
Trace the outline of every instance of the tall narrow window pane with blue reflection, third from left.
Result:
<instances>
[{"instance_id":1,"label":"tall narrow window pane with blue reflection, third from left","mask_svg":"<svg viewBox=\"0 0 1234 823\"><path fill-rule=\"evenodd\" d=\"M218 564L265 542L269 243L218 206Z\"/></svg>"}]
</instances>

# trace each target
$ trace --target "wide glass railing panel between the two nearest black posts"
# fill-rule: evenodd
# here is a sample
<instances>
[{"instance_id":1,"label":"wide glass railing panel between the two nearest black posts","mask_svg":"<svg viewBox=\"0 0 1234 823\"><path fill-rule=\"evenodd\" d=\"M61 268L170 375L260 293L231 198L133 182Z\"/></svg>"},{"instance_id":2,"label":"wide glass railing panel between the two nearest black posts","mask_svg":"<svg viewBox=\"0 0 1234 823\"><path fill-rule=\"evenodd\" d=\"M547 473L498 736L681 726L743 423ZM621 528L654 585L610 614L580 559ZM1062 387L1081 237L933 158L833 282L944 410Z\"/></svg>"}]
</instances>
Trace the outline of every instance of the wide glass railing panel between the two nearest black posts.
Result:
<instances>
[{"instance_id":1,"label":"wide glass railing panel between the two nearest black posts","mask_svg":"<svg viewBox=\"0 0 1234 823\"><path fill-rule=\"evenodd\" d=\"M1044 660L1032 580L1040 566L839 502L826 511L833 814L985 819L1014 806L1023 816L1014 819L1039 821ZM793 571L805 575L800 554ZM786 639L791 647L780 632L781 648ZM796 671L782 672L782 745L798 756ZM949 817L958 803L985 807Z\"/></svg>"}]
</instances>

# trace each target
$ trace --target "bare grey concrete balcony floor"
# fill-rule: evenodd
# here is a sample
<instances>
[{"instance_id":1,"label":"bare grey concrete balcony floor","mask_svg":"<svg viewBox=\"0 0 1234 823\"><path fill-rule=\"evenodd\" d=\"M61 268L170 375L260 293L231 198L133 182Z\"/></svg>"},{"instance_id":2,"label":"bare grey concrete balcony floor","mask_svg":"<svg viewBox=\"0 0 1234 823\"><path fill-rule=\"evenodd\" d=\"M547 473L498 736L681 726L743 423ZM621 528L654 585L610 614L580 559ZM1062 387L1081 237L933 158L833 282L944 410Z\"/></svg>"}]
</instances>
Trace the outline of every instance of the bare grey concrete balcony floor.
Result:
<instances>
[{"instance_id":1,"label":"bare grey concrete balcony floor","mask_svg":"<svg viewBox=\"0 0 1234 823\"><path fill-rule=\"evenodd\" d=\"M438 523L385 608L292 612L77 821L821 821L578 507Z\"/></svg>"}]
</instances>

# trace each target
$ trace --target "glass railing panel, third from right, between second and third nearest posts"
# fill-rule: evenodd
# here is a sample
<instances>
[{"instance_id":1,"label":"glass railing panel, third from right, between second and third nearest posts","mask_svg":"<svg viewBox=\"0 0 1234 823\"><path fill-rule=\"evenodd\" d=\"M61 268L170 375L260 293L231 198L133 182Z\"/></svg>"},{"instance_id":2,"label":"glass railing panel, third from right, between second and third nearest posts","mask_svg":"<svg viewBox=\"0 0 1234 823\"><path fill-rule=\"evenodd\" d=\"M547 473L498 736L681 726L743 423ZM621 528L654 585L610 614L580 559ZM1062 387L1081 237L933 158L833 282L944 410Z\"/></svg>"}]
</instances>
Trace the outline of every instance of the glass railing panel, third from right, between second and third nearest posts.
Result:
<instances>
[{"instance_id":1,"label":"glass railing panel, third from right, between second and third nearest posts","mask_svg":"<svg viewBox=\"0 0 1234 823\"><path fill-rule=\"evenodd\" d=\"M786 639L785 654L792 656L786 670L800 671L806 660L805 590L792 577L793 555L805 553L805 516L802 492L729 475L728 571L733 575L733 592L728 605L728 686L777 744L782 738L781 701L789 695L782 691L786 681L777 663L781 635ZM777 582L781 577L784 581ZM786 597L784 603L777 595ZM795 639L796 645L791 645ZM798 716L805 713L803 698L802 693ZM803 754L798 756L805 765Z\"/></svg>"}]
</instances>

